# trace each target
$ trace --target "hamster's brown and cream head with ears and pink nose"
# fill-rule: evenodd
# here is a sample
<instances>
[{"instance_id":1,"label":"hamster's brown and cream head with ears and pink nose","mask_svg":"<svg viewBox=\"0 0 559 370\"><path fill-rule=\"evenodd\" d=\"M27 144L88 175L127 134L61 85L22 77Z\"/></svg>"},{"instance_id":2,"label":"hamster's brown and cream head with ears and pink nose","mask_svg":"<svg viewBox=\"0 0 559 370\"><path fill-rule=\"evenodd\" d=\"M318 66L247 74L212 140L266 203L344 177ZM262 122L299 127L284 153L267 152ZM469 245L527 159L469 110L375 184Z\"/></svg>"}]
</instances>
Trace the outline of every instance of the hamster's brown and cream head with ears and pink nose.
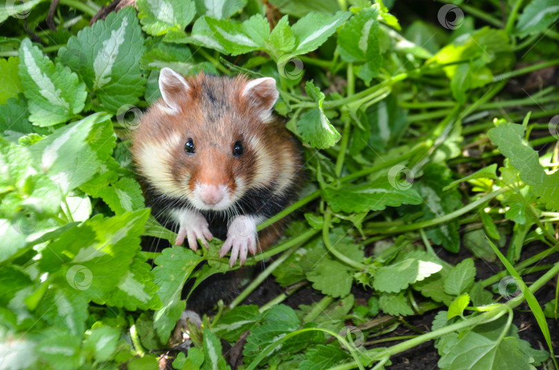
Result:
<instances>
[{"instance_id":1,"label":"hamster's brown and cream head with ears and pink nose","mask_svg":"<svg viewBox=\"0 0 559 370\"><path fill-rule=\"evenodd\" d=\"M163 68L161 99L134 133L133 157L149 186L198 210L226 211L273 171L275 80L197 75Z\"/></svg>"}]
</instances>

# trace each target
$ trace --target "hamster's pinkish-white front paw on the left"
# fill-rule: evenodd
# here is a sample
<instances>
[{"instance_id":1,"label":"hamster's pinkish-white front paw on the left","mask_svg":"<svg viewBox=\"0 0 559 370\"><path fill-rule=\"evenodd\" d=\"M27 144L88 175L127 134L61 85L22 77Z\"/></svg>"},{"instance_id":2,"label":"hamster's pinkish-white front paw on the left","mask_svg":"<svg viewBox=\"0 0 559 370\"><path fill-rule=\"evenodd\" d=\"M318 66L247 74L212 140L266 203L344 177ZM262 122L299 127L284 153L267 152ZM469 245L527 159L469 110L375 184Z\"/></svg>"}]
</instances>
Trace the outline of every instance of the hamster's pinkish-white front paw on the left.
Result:
<instances>
[{"instance_id":1,"label":"hamster's pinkish-white front paw on the left","mask_svg":"<svg viewBox=\"0 0 559 370\"><path fill-rule=\"evenodd\" d=\"M213 239L206 218L198 211L179 209L171 211L179 221L179 235L175 241L176 245L182 245L184 238L188 239L188 245L193 251L197 251L197 239L208 249L208 240Z\"/></svg>"}]
</instances>

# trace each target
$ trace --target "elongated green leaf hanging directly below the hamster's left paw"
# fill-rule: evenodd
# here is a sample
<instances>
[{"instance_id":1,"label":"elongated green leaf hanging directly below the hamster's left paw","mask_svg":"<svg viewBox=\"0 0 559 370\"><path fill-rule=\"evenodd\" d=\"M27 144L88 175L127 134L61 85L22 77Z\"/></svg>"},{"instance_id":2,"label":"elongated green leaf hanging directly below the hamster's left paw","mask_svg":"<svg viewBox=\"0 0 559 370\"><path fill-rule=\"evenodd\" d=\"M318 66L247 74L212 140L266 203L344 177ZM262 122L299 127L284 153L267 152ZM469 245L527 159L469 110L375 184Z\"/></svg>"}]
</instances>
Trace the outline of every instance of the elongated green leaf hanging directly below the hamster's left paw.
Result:
<instances>
[{"instance_id":1,"label":"elongated green leaf hanging directly below the hamster's left paw","mask_svg":"<svg viewBox=\"0 0 559 370\"><path fill-rule=\"evenodd\" d=\"M199 261L199 256L182 246L166 248L155 259L157 266L153 273L155 284L159 286L157 295L163 308L155 311L153 324L163 343L169 339L170 332L185 308L185 302L181 301L181 291Z\"/></svg>"}]
</instances>

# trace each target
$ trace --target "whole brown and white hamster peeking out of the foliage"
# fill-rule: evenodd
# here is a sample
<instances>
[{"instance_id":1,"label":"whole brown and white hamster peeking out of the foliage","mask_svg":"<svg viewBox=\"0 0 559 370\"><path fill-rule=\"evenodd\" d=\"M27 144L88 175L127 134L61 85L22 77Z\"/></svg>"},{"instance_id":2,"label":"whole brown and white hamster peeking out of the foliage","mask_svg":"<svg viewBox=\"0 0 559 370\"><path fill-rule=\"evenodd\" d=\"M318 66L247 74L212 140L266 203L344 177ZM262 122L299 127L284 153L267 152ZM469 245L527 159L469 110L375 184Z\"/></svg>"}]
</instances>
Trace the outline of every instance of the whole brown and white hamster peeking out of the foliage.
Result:
<instances>
[{"instance_id":1,"label":"whole brown and white hamster peeking out of the foliage","mask_svg":"<svg viewBox=\"0 0 559 370\"><path fill-rule=\"evenodd\" d=\"M246 262L280 237L256 226L293 202L300 188L300 144L273 114L270 77L159 75L161 99L133 133L132 155L146 203L177 231L176 245L224 240L230 265Z\"/></svg>"}]
</instances>

